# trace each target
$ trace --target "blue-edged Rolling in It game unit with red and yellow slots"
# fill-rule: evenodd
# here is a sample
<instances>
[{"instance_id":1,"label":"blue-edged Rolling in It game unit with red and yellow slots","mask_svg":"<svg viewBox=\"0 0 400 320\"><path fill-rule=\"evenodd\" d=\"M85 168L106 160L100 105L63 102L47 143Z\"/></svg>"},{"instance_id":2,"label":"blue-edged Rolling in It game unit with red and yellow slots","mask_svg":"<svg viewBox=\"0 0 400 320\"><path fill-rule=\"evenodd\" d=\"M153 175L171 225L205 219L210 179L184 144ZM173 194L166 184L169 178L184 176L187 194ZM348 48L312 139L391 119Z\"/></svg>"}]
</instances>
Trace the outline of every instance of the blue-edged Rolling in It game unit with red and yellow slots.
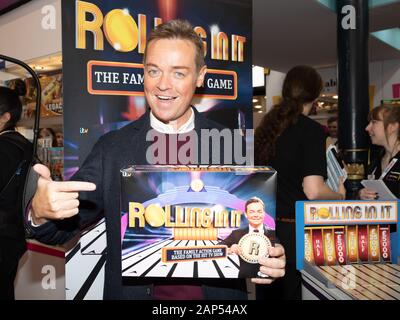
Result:
<instances>
[{"instance_id":1,"label":"blue-edged Rolling in It game unit with red and yellow slots","mask_svg":"<svg viewBox=\"0 0 400 320\"><path fill-rule=\"evenodd\" d=\"M400 300L397 201L296 203L303 299Z\"/></svg>"}]
</instances>

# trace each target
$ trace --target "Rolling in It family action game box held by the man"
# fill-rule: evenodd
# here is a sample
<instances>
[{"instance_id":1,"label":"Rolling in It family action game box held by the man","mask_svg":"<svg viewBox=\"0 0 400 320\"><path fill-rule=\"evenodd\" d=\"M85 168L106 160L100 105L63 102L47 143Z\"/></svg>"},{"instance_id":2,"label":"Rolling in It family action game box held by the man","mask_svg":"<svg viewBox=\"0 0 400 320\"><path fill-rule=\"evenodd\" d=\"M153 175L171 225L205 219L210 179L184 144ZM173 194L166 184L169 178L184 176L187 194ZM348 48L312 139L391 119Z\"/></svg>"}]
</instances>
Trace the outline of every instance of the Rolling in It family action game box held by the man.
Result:
<instances>
[{"instance_id":1,"label":"Rolling in It family action game box held by the man","mask_svg":"<svg viewBox=\"0 0 400 320\"><path fill-rule=\"evenodd\" d=\"M275 243L276 172L268 167L121 170L122 276L263 277Z\"/></svg>"}]
</instances>

